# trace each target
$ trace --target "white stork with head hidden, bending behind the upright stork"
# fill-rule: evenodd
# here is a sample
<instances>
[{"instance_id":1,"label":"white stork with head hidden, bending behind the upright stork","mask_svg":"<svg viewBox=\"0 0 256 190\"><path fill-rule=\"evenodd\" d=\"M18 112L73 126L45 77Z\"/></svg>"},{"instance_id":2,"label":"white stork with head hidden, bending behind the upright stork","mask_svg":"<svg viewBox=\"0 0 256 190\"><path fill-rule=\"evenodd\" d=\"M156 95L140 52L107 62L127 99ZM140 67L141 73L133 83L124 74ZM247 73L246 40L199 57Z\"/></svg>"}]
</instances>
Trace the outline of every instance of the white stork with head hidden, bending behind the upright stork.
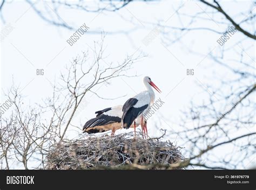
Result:
<instances>
[{"instance_id":1,"label":"white stork with head hidden, bending behind the upright stork","mask_svg":"<svg viewBox=\"0 0 256 190\"><path fill-rule=\"evenodd\" d=\"M111 130L111 136L118 129L121 129L121 117L123 105L117 105L112 108L106 108L96 111L96 117L87 121L83 127L83 133L98 133ZM139 119L136 120L136 127L140 125ZM133 128L134 126L131 126Z\"/></svg>"}]
</instances>

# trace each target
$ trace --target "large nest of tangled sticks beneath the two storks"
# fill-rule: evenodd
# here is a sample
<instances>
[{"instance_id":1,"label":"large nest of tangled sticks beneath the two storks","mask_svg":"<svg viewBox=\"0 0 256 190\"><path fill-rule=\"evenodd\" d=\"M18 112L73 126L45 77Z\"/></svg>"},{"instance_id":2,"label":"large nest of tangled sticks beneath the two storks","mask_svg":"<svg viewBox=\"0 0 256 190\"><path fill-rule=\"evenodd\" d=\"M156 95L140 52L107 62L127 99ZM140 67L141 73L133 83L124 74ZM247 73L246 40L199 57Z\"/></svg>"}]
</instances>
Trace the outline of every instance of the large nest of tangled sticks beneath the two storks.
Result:
<instances>
[{"instance_id":1,"label":"large nest of tangled sticks beneath the two storks","mask_svg":"<svg viewBox=\"0 0 256 190\"><path fill-rule=\"evenodd\" d=\"M180 168L177 163L183 160L180 147L171 142L133 138L127 133L60 143L50 150L46 169L166 169Z\"/></svg>"}]
</instances>

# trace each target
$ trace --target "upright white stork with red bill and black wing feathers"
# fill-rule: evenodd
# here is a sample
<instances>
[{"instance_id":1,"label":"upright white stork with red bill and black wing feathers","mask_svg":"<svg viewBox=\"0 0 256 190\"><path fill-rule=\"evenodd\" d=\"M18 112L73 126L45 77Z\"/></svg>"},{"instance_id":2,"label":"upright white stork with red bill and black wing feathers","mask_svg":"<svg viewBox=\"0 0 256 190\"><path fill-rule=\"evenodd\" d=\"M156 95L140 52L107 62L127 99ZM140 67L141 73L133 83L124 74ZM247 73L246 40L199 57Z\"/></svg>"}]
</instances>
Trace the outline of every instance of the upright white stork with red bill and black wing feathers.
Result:
<instances>
[{"instance_id":1,"label":"upright white stork with red bill and black wing feathers","mask_svg":"<svg viewBox=\"0 0 256 190\"><path fill-rule=\"evenodd\" d=\"M145 91L137 94L136 96L130 98L123 105L123 116L121 125L122 128L129 129L131 124L134 122L136 126L136 118L140 120L140 125L142 126L142 132L144 131L145 137L147 134L147 125L143 114L150 108L154 103L154 91L161 93L161 90L151 81L149 76L145 76L143 79L144 85L146 86ZM153 87L153 88L152 88ZM143 134L143 133L142 133ZM136 129L134 127L134 136L136 136ZM147 135L147 137L149 137ZM144 138L144 135L143 135Z\"/></svg>"}]
</instances>

